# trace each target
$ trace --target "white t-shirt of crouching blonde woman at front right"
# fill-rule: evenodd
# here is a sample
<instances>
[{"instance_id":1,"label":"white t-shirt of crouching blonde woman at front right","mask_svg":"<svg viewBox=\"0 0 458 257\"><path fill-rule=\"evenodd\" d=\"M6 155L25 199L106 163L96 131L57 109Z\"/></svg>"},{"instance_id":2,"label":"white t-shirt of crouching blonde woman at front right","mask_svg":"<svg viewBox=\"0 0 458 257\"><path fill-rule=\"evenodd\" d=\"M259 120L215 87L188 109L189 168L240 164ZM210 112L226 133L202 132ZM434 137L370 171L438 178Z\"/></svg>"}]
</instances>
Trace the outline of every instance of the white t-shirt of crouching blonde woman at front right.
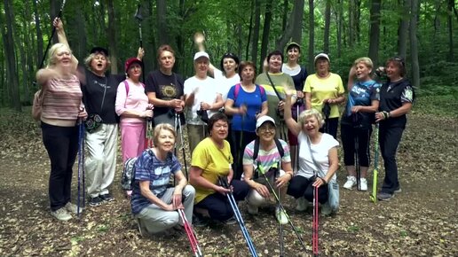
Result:
<instances>
[{"instance_id":1,"label":"white t-shirt of crouching blonde woman at front right","mask_svg":"<svg viewBox=\"0 0 458 257\"><path fill-rule=\"evenodd\" d=\"M333 147L339 146L337 140L326 133L323 133L319 144L310 144L312 148L312 154L315 161L320 165L320 169L315 166L310 153L310 148L307 143L308 137L304 132L300 132L297 136L299 147L299 171L297 175L303 175L306 178L310 178L313 175L313 171L317 171L320 177L324 177L328 173L329 169L329 150ZM336 174L331 179L336 179Z\"/></svg>"}]
</instances>

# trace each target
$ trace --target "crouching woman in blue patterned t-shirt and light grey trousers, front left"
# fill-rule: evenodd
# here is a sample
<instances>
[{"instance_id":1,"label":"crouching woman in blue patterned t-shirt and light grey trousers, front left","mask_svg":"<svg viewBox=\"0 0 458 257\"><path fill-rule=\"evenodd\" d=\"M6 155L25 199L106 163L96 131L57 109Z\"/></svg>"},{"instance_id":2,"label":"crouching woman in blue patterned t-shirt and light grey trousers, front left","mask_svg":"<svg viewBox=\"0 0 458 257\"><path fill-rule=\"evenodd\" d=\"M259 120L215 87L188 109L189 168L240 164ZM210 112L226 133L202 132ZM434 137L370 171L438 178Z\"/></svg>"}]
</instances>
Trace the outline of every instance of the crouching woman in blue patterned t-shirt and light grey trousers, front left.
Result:
<instances>
[{"instance_id":1,"label":"crouching woman in blue patterned t-shirt and light grey trousers, front left","mask_svg":"<svg viewBox=\"0 0 458 257\"><path fill-rule=\"evenodd\" d=\"M186 176L173 147L177 133L170 124L161 123L154 128L154 147L146 149L135 162L132 214L138 219L140 232L157 234L170 229L182 230L178 209L184 209L186 219L192 222L194 188L187 184ZM178 184L167 188L170 176ZM173 230L172 230L173 231Z\"/></svg>"}]
</instances>

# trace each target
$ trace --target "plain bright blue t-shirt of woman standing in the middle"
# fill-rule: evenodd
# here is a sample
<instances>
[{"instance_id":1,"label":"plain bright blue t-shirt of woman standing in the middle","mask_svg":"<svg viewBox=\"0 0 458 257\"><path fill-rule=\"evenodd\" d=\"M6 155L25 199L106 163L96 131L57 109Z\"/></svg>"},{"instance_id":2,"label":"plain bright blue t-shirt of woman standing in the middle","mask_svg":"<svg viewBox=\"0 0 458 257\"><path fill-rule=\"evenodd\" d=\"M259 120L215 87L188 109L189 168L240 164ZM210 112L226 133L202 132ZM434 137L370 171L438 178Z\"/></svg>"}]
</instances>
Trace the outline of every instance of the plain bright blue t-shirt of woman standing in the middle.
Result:
<instances>
[{"instance_id":1,"label":"plain bright blue t-shirt of woman standing in the middle","mask_svg":"<svg viewBox=\"0 0 458 257\"><path fill-rule=\"evenodd\" d=\"M262 105L265 101L267 101L267 97L264 93L261 93L260 86L256 86L256 90L254 92L246 92L240 86L239 93L237 98L234 99L235 94L235 87L231 87L229 92L227 93L227 98L233 99L233 107L240 107L241 105L247 105L247 113L245 114L243 124L241 119L241 114L233 114L233 125L232 129L237 131L248 131L248 132L255 132L256 131L256 114L261 113ZM243 127L243 128L242 128Z\"/></svg>"}]
</instances>

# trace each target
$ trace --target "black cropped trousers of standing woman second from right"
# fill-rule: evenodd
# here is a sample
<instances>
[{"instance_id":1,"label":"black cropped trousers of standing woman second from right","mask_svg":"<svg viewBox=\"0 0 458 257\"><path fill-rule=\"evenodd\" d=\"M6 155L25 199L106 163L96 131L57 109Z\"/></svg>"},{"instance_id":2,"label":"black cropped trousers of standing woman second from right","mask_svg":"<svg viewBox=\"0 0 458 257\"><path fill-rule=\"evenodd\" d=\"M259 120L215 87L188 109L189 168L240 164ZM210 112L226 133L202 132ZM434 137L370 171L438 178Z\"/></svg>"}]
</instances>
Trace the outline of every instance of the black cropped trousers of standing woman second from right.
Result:
<instances>
[{"instance_id":1,"label":"black cropped trousers of standing woman second from right","mask_svg":"<svg viewBox=\"0 0 458 257\"><path fill-rule=\"evenodd\" d=\"M343 162L345 166L355 165L356 144L358 139L358 160L359 167L369 167L370 153L369 142L372 128L353 128L351 125L341 124L340 136L343 145Z\"/></svg>"}]
</instances>

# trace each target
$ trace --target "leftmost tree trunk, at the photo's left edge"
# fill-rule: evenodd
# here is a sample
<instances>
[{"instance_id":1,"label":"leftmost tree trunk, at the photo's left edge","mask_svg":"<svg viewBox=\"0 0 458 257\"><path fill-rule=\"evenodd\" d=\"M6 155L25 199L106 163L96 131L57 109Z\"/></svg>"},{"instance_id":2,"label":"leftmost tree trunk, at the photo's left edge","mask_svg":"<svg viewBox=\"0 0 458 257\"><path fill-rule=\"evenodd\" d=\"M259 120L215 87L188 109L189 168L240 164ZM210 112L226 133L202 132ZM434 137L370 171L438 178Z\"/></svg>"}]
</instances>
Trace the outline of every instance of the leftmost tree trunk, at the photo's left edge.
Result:
<instances>
[{"instance_id":1,"label":"leftmost tree trunk, at the photo's left edge","mask_svg":"<svg viewBox=\"0 0 458 257\"><path fill-rule=\"evenodd\" d=\"M4 46L6 53L6 77L7 87L9 88L10 106L20 112L20 90L18 71L16 69L16 55L14 51L14 41L12 35L15 35L14 29L14 12L12 2L4 0L6 32L4 32ZM3 27L3 26L2 26ZM4 29L4 28L3 28Z\"/></svg>"}]
</instances>

